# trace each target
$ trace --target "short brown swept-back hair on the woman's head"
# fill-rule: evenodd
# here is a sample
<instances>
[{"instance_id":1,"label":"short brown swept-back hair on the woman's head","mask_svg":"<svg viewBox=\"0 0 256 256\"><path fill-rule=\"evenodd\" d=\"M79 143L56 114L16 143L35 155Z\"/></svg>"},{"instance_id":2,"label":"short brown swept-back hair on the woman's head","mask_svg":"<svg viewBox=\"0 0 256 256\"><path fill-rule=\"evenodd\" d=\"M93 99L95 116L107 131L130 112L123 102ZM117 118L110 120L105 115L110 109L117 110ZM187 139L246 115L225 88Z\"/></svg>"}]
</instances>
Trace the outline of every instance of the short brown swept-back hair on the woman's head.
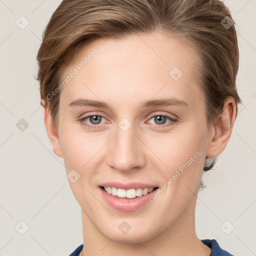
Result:
<instances>
[{"instance_id":1,"label":"short brown swept-back hair on the woman's head","mask_svg":"<svg viewBox=\"0 0 256 256\"><path fill-rule=\"evenodd\" d=\"M208 127L220 118L227 96L235 100L236 118L237 103L242 102L235 84L237 36L234 25L221 24L230 18L230 11L219 0L63 0L43 32L37 53L40 95L56 130L60 93L52 99L47 94L59 85L64 68L81 46L96 38L156 30L182 36L196 46ZM204 170L211 169L216 159L206 157Z\"/></svg>"}]
</instances>

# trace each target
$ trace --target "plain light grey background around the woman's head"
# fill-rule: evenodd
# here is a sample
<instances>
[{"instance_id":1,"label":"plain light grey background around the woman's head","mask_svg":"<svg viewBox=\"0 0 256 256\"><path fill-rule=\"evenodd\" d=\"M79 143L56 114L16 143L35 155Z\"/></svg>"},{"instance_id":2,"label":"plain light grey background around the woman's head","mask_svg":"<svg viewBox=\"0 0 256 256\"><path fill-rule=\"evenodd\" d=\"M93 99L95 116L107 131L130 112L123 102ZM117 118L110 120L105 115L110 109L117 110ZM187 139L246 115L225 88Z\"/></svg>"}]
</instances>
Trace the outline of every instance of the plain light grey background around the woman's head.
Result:
<instances>
[{"instance_id":1,"label":"plain light grey background around the woman's head","mask_svg":"<svg viewBox=\"0 0 256 256\"><path fill-rule=\"evenodd\" d=\"M52 152L34 79L42 31L59 3L0 0L1 256L69 255L83 242L80 206L69 187L63 159ZM204 177L206 188L196 204L196 231L199 238L215 238L234 255L251 256L256 255L256 1L224 3L238 24L237 89L244 105L239 106L216 170ZM24 29L15 24L21 15L29 21ZM16 127L21 118L29 125L23 131ZM21 220L29 226L24 234L19 232L22 222L18 228ZM231 225L234 229L225 234Z\"/></svg>"}]
</instances>

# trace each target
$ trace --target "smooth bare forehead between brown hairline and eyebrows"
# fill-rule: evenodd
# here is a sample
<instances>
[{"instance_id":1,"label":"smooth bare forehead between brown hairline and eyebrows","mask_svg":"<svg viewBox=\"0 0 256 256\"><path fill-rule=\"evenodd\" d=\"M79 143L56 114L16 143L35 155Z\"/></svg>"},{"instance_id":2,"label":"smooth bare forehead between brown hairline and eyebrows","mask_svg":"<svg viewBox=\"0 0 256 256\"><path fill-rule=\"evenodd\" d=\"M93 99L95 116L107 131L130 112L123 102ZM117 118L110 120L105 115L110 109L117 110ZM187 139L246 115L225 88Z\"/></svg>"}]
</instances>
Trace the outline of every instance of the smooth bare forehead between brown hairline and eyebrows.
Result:
<instances>
[{"instance_id":1,"label":"smooth bare forehead between brown hairline and eyebrows","mask_svg":"<svg viewBox=\"0 0 256 256\"><path fill-rule=\"evenodd\" d=\"M75 75L61 90L60 100L86 96L126 104L168 95L191 103L202 91L196 79L198 56L190 45L159 32L93 40L65 68L63 79Z\"/></svg>"}]
</instances>

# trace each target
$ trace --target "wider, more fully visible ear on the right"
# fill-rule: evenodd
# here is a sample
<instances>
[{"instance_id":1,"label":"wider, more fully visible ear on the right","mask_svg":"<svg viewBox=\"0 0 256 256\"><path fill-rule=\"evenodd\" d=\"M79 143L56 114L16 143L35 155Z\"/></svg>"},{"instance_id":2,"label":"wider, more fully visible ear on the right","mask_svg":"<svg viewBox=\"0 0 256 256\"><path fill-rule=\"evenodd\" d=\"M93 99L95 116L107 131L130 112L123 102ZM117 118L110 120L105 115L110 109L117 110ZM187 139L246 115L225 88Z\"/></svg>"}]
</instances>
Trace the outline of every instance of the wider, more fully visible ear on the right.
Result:
<instances>
[{"instance_id":1,"label":"wider, more fully visible ear on the right","mask_svg":"<svg viewBox=\"0 0 256 256\"><path fill-rule=\"evenodd\" d=\"M206 156L218 156L226 147L231 136L232 127L235 120L235 101L228 96L224 100L221 119L217 120L211 129L210 142L207 144Z\"/></svg>"}]
</instances>

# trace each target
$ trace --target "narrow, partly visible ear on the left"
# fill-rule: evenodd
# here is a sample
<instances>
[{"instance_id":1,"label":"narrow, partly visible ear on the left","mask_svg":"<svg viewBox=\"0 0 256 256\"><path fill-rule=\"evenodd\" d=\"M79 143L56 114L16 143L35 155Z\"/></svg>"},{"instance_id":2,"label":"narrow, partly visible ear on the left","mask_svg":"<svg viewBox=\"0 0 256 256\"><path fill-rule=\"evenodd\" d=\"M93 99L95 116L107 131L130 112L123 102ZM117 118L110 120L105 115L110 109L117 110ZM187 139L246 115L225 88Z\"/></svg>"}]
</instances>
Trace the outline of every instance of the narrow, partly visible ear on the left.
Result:
<instances>
[{"instance_id":1,"label":"narrow, partly visible ear on the left","mask_svg":"<svg viewBox=\"0 0 256 256\"><path fill-rule=\"evenodd\" d=\"M43 106L43 111L44 111L44 124L45 124L45 128L46 128L46 132L47 132L48 138L50 140L50 143L52 145L53 152L57 156L63 157L62 151L61 151L61 146L59 143L58 134L57 134L55 126L53 124L53 121L52 121L52 118L51 118L51 115L49 112L48 104L46 104L45 100L42 99L41 105Z\"/></svg>"}]
</instances>

